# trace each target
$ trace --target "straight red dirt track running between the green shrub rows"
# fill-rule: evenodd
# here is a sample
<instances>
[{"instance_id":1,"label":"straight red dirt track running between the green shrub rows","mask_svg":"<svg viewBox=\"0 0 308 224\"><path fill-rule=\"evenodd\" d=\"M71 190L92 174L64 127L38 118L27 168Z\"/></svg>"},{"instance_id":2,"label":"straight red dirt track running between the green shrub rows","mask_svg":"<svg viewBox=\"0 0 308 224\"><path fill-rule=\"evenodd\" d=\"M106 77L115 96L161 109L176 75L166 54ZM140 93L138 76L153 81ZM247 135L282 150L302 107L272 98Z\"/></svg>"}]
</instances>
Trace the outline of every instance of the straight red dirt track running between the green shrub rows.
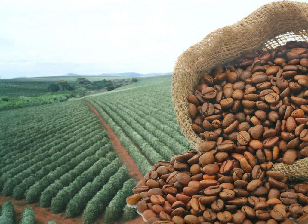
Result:
<instances>
[{"instance_id":1,"label":"straight red dirt track running between the green shrub rows","mask_svg":"<svg viewBox=\"0 0 308 224\"><path fill-rule=\"evenodd\" d=\"M142 174L138 170L136 164L134 163L130 155L127 153L127 151L124 149L124 147L120 143L119 138L115 135L115 133L111 130L111 128L107 125L107 123L99 115L97 110L95 110L91 106L90 103L86 102L86 104L91 108L93 113L99 118L99 121L102 123L103 129L107 130L108 138L111 141L115 152L119 155L120 159L123 162L123 165L127 166L129 177L136 181L142 180L143 179Z\"/></svg>"}]
</instances>

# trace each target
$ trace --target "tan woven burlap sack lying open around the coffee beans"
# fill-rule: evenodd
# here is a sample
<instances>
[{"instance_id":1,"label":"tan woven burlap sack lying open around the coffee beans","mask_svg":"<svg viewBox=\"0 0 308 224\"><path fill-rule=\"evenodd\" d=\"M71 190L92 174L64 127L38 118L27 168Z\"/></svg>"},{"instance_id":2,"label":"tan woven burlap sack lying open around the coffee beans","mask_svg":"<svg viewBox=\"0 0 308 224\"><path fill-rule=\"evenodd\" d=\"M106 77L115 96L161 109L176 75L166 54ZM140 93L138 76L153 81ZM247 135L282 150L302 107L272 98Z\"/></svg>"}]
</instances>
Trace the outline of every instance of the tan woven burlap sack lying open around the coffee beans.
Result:
<instances>
[{"instance_id":1,"label":"tan woven burlap sack lying open around the coffee beans","mask_svg":"<svg viewBox=\"0 0 308 224\"><path fill-rule=\"evenodd\" d=\"M197 150L204 140L191 127L187 95L193 94L202 74L244 52L267 50L293 40L308 40L308 4L277 1L261 6L231 26L213 31L180 55L172 75L173 105L183 134ZM273 169L284 172L290 179L308 180L308 158L291 166L277 163Z\"/></svg>"}]
</instances>

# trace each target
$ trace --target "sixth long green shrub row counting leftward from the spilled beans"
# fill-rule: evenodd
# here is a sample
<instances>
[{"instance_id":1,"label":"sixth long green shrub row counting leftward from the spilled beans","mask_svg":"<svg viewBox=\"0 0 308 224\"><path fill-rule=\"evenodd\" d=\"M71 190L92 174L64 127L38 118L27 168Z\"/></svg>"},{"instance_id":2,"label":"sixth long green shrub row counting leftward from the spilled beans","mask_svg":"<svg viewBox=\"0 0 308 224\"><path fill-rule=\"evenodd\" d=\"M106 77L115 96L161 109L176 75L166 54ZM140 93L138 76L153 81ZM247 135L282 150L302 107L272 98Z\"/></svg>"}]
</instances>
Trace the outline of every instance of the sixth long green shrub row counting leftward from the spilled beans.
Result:
<instances>
[{"instance_id":1,"label":"sixth long green shrub row counting leftward from the spilled beans","mask_svg":"<svg viewBox=\"0 0 308 224\"><path fill-rule=\"evenodd\" d=\"M39 196L43 192L44 189L47 188L50 184L55 182L55 180L59 179L61 176L73 170L79 163L83 162L89 156L92 156L96 152L100 150L100 147L106 145L109 142L107 137L103 138L101 141L96 142L94 145L90 146L88 149L85 149L82 153L77 155L75 158L73 157L71 161L64 163L62 166L57 167L55 170L49 172L42 179L37 181L34 185L32 185L29 190L26 192L26 203L34 203L39 200ZM104 151L106 152L106 151ZM104 153L102 152L102 153ZM106 152L107 154L107 152Z\"/></svg>"}]
</instances>

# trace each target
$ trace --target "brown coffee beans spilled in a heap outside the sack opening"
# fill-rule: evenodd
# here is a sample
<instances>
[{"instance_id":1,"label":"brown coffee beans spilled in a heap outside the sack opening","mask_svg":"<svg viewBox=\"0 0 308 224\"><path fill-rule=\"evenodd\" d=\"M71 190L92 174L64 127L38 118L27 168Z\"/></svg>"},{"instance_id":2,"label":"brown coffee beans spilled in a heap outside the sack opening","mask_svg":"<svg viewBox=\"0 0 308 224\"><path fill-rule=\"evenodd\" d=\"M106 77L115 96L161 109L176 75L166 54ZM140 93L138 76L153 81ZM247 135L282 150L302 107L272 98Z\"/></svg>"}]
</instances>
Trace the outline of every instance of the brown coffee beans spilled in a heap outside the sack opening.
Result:
<instances>
[{"instance_id":1,"label":"brown coffee beans spilled in a heap outside the sack opening","mask_svg":"<svg viewBox=\"0 0 308 224\"><path fill-rule=\"evenodd\" d=\"M248 151L189 150L158 161L127 198L146 224L308 223L308 184L287 182Z\"/></svg>"}]
</instances>

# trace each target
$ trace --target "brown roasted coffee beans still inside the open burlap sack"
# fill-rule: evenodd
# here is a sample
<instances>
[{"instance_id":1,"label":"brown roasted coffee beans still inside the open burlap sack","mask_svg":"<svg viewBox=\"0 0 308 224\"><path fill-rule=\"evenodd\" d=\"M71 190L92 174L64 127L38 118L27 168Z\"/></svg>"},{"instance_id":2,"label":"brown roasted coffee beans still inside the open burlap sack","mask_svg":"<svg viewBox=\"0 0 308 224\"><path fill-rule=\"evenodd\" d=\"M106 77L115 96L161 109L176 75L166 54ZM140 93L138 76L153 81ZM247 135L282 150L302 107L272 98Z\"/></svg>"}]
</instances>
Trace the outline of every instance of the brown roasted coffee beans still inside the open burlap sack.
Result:
<instances>
[{"instance_id":1,"label":"brown roasted coffee beans still inside the open burlap sack","mask_svg":"<svg viewBox=\"0 0 308 224\"><path fill-rule=\"evenodd\" d=\"M308 42L216 66L188 95L192 128L220 152L248 151L261 163L292 164L308 156L307 73Z\"/></svg>"}]
</instances>

